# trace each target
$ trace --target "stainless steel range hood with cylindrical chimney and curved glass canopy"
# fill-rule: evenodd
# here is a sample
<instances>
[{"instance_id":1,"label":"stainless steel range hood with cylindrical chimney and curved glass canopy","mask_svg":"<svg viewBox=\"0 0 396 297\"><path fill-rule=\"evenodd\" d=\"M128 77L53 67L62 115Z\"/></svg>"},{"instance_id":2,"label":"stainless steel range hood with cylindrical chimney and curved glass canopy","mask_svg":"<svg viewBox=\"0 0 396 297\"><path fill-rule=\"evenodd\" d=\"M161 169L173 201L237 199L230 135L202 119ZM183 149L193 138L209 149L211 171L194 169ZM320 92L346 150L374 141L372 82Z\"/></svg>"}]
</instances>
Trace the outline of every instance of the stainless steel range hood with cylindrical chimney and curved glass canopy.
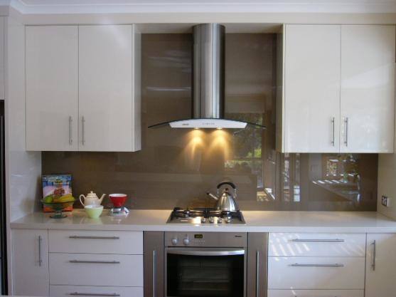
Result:
<instances>
[{"instance_id":1,"label":"stainless steel range hood with cylindrical chimney and curved glass canopy","mask_svg":"<svg viewBox=\"0 0 396 297\"><path fill-rule=\"evenodd\" d=\"M224 118L225 27L220 24L193 26L193 106L192 119L151 125L173 128L237 128L248 124Z\"/></svg>"}]
</instances>

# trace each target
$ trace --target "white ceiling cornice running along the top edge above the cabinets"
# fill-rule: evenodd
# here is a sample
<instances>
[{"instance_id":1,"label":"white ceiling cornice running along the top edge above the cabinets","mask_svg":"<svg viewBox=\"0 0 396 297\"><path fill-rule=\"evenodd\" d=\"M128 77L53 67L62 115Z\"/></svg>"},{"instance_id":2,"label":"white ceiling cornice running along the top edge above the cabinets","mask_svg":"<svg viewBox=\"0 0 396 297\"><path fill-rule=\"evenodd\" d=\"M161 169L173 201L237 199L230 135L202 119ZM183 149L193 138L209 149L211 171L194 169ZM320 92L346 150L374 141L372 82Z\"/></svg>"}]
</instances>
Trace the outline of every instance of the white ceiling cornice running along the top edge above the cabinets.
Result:
<instances>
[{"instance_id":1,"label":"white ceiling cornice running along the top edge above the cabinets","mask_svg":"<svg viewBox=\"0 0 396 297\"><path fill-rule=\"evenodd\" d=\"M371 2L313 1L287 2L257 1L240 3L208 2L168 2L136 4L40 4L28 5L23 0L0 0L0 4L10 5L21 14L132 14L132 13L331 13L331 14L382 14L396 13L396 1L373 0Z\"/></svg>"}]
</instances>

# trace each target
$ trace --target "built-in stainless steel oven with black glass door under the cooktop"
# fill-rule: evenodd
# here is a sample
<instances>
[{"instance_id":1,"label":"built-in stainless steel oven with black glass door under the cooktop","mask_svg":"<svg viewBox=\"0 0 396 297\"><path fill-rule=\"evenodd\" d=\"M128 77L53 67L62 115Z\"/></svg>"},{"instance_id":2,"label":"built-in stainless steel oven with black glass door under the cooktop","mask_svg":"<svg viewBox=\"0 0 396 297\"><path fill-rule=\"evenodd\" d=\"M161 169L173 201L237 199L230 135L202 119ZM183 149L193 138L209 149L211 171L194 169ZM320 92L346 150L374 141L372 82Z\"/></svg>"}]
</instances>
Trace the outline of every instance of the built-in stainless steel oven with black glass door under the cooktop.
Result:
<instances>
[{"instance_id":1,"label":"built-in stainless steel oven with black glass door under the cooktop","mask_svg":"<svg viewBox=\"0 0 396 297\"><path fill-rule=\"evenodd\" d=\"M166 297L245 297L246 233L166 232Z\"/></svg>"}]
</instances>

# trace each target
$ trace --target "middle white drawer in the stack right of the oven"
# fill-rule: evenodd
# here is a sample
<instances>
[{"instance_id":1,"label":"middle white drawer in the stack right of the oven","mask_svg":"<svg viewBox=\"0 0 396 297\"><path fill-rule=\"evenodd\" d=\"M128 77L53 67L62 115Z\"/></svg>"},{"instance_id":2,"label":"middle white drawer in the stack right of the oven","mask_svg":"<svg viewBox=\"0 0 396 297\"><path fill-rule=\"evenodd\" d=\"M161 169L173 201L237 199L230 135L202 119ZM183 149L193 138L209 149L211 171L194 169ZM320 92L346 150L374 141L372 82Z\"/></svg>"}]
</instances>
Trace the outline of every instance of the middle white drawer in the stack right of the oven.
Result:
<instances>
[{"instance_id":1,"label":"middle white drawer in the stack right of the oven","mask_svg":"<svg viewBox=\"0 0 396 297\"><path fill-rule=\"evenodd\" d=\"M268 288L363 289L364 257L269 257Z\"/></svg>"}]
</instances>

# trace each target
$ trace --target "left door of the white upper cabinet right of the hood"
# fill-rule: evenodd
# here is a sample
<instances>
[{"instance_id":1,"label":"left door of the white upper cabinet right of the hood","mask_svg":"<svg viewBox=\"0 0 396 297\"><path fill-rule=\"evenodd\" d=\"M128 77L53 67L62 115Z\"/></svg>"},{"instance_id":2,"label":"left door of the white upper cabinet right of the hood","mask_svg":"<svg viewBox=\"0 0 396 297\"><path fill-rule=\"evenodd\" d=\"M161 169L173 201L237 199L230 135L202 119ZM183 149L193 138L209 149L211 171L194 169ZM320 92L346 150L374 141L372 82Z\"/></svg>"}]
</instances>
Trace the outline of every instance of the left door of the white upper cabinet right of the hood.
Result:
<instances>
[{"instance_id":1,"label":"left door of the white upper cabinet right of the hood","mask_svg":"<svg viewBox=\"0 0 396 297\"><path fill-rule=\"evenodd\" d=\"M284 152L338 152L341 27L287 25Z\"/></svg>"}]
</instances>

